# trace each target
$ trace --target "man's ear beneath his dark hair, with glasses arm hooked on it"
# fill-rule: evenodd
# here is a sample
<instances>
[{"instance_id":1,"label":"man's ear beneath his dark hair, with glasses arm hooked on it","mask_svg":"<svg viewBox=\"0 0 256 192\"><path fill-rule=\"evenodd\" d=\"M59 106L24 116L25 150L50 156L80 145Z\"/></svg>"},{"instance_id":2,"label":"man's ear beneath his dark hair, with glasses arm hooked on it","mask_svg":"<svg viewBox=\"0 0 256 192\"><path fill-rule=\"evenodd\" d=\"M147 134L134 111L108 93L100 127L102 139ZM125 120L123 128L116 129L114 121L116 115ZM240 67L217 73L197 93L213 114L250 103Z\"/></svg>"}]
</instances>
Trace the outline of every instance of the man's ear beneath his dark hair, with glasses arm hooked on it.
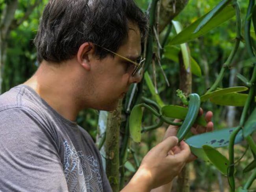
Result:
<instances>
[{"instance_id":1,"label":"man's ear beneath his dark hair, with glasses arm hooked on it","mask_svg":"<svg viewBox=\"0 0 256 192\"><path fill-rule=\"evenodd\" d=\"M80 45L77 52L77 61L85 70L91 70L90 60L93 54L94 48L91 42L84 42Z\"/></svg>"}]
</instances>

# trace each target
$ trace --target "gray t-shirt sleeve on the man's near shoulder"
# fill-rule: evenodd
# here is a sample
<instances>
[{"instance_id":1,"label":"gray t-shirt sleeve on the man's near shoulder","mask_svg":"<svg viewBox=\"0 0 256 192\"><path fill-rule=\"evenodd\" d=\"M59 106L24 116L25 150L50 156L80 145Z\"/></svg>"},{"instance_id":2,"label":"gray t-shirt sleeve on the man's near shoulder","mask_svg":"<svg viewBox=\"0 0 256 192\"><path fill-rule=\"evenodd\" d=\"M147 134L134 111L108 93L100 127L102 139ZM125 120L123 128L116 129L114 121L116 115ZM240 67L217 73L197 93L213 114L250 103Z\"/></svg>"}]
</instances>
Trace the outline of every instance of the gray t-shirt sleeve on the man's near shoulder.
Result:
<instances>
[{"instance_id":1,"label":"gray t-shirt sleeve on the man's near shoulder","mask_svg":"<svg viewBox=\"0 0 256 192\"><path fill-rule=\"evenodd\" d=\"M2 191L68 191L54 134L25 109L0 111L0 165Z\"/></svg>"}]
</instances>

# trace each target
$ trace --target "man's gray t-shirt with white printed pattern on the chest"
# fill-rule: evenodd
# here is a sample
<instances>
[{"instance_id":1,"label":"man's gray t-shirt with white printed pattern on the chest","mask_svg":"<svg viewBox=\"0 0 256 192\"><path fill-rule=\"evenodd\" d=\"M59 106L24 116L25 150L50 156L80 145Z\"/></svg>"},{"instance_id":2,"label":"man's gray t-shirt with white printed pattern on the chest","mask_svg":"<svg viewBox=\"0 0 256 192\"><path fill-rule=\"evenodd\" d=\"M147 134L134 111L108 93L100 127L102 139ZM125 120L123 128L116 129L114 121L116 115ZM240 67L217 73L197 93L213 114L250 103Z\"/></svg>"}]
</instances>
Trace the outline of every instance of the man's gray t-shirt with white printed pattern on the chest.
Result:
<instances>
[{"instance_id":1,"label":"man's gray t-shirt with white printed pattern on the chest","mask_svg":"<svg viewBox=\"0 0 256 192\"><path fill-rule=\"evenodd\" d=\"M112 190L90 135L19 85L0 95L0 191Z\"/></svg>"}]
</instances>

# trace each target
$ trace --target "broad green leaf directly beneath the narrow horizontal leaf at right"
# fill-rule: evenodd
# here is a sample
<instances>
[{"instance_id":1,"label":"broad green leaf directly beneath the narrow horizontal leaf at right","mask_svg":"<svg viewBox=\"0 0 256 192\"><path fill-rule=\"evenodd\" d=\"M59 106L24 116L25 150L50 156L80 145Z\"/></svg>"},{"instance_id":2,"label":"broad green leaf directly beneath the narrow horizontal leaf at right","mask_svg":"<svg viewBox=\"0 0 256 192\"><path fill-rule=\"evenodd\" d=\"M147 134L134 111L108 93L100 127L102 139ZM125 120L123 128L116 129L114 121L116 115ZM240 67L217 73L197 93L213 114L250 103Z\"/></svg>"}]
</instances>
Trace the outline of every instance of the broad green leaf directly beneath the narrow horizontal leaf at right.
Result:
<instances>
[{"instance_id":1,"label":"broad green leaf directly beneath the narrow horizontal leaf at right","mask_svg":"<svg viewBox=\"0 0 256 192\"><path fill-rule=\"evenodd\" d=\"M215 103L216 105L244 106L247 100L247 97L248 97L248 94L241 94L241 93L235 92L235 93L228 93L228 94L212 97L210 98L210 101L212 103Z\"/></svg>"}]
</instances>

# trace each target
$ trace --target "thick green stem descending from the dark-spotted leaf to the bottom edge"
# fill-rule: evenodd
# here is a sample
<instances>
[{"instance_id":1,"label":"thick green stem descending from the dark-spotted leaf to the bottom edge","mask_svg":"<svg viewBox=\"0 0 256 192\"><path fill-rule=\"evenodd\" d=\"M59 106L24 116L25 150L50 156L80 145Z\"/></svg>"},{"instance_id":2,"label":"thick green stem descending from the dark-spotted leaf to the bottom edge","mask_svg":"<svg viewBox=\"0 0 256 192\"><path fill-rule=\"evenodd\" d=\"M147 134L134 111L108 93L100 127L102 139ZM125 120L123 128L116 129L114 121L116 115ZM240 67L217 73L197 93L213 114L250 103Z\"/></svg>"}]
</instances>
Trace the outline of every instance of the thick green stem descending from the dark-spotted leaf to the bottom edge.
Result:
<instances>
[{"instance_id":1,"label":"thick green stem descending from the dark-spotted leaf to the bottom edge","mask_svg":"<svg viewBox=\"0 0 256 192\"><path fill-rule=\"evenodd\" d=\"M228 154L229 154L229 163L230 167L228 168L228 182L231 188L231 191L235 191L236 185L235 185L235 179L234 179L234 143L236 139L237 133L242 129L241 126L237 127L232 134L230 135L229 140L229 147L228 147Z\"/></svg>"}]
</instances>

